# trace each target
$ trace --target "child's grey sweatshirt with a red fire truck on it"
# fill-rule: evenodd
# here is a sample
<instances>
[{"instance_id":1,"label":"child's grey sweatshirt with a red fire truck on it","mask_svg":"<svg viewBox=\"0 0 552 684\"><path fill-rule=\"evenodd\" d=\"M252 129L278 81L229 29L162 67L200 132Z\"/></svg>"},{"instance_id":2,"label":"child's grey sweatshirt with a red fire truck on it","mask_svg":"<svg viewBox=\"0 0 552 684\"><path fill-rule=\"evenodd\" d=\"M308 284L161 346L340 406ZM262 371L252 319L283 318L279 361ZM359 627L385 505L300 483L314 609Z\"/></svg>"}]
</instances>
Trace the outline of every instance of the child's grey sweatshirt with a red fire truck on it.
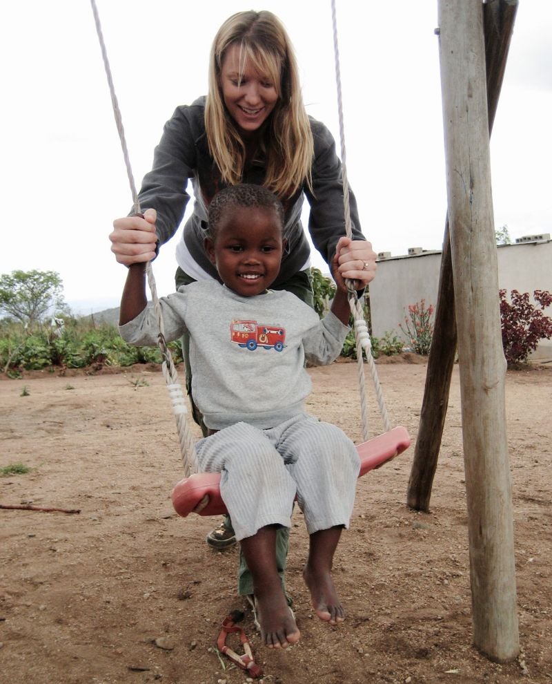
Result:
<instances>
[{"instance_id":1,"label":"child's grey sweatshirt with a red fire truck on it","mask_svg":"<svg viewBox=\"0 0 552 684\"><path fill-rule=\"evenodd\" d=\"M312 389L304 362L332 363L348 332L331 312L321 321L285 291L242 297L216 281L201 281L160 303L166 340L190 334L193 397L213 430L239 421L270 428L304 412ZM156 345L153 307L119 332L130 344Z\"/></svg>"}]
</instances>

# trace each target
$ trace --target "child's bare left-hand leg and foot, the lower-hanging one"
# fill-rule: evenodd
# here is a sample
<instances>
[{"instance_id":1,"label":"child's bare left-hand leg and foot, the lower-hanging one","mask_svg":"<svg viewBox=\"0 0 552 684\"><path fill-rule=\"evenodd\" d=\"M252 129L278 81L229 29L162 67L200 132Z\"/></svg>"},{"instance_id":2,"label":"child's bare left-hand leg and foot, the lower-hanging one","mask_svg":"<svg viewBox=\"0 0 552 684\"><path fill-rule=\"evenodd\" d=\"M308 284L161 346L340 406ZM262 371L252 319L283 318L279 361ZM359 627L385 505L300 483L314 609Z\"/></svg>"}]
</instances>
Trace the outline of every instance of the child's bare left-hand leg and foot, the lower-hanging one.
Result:
<instances>
[{"instance_id":1,"label":"child's bare left-hand leg and foot, the lower-hanging one","mask_svg":"<svg viewBox=\"0 0 552 684\"><path fill-rule=\"evenodd\" d=\"M285 648L299 640L300 634L276 567L276 531L275 525L262 527L240 544L253 577L262 640L268 648Z\"/></svg>"}]
</instances>

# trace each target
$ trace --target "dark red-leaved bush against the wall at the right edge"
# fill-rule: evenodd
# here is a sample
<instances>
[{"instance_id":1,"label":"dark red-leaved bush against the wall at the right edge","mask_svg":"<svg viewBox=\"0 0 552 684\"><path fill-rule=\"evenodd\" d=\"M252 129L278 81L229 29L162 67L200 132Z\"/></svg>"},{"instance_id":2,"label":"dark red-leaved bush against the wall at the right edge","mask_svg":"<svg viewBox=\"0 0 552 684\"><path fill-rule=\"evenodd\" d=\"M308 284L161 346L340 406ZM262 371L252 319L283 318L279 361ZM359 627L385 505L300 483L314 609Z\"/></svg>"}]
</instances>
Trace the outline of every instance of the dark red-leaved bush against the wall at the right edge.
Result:
<instances>
[{"instance_id":1,"label":"dark red-leaved bush against the wall at the right edge","mask_svg":"<svg viewBox=\"0 0 552 684\"><path fill-rule=\"evenodd\" d=\"M529 302L529 292L520 294L513 289L510 293L511 302L506 300L505 289L499 290L499 296L502 348L506 362L509 365L526 363L539 341L552 337L552 319L542 312L552 305L552 294L535 289L533 298L540 308Z\"/></svg>"}]
</instances>

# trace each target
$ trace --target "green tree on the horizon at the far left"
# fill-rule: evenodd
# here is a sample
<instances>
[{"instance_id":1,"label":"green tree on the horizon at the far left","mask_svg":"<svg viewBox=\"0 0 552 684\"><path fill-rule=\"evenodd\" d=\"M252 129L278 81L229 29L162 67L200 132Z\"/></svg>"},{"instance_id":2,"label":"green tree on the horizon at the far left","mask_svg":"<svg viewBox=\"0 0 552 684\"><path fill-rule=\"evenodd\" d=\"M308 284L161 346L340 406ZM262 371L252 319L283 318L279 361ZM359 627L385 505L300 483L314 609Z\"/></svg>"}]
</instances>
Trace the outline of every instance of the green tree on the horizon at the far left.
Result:
<instances>
[{"instance_id":1,"label":"green tree on the horizon at the far left","mask_svg":"<svg viewBox=\"0 0 552 684\"><path fill-rule=\"evenodd\" d=\"M67 308L63 283L54 271L12 271L0 276L0 312L32 327L48 313Z\"/></svg>"}]
</instances>

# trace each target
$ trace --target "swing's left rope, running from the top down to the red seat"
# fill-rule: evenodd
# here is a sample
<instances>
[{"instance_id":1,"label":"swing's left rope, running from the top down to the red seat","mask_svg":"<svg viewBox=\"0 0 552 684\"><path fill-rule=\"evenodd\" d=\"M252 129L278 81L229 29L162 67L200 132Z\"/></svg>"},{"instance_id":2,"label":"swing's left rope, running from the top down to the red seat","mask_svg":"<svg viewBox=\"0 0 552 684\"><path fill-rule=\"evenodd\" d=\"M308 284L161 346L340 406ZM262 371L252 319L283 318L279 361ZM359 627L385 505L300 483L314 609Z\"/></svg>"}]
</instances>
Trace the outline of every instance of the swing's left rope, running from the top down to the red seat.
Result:
<instances>
[{"instance_id":1,"label":"swing's left rope, running from the top down to the red seat","mask_svg":"<svg viewBox=\"0 0 552 684\"><path fill-rule=\"evenodd\" d=\"M94 15L94 23L96 26L96 32L98 35L99 44L101 48L103 66L106 69L106 76L108 78L109 92L111 95L111 104L113 107L113 114L115 115L115 123L117 124L119 140L121 141L121 148L123 149L126 174L128 175L130 192L132 193L134 211L136 214L141 215L140 202L138 199L138 193L136 191L134 175L132 174L132 167L130 167L130 157L128 155L128 147L126 144L123 120L121 117L121 111L119 110L119 103L117 102L117 95L115 95L115 86L113 85L113 78L111 75L108 53L106 50L106 44L103 41L103 32L101 31L101 23L99 21L98 8L96 6L95 0L90 0L90 5L92 6L92 14ZM165 341L165 326L163 322L163 313L161 312L161 305L159 304L159 297L157 296L157 285L155 283L151 263L149 261L146 264L146 274L148 276L148 285L150 287L153 307L155 310L155 314L157 316L157 325L159 327L157 344L159 345L161 359L163 361L162 369L168 387L169 397L172 405L172 412L175 414L175 419L177 423L180 451L182 455L182 465L184 466L184 477L188 477L191 474L191 472L195 470L195 468L193 467L195 466L195 464L192 462L193 457L190 456L193 453L193 437L191 435L189 421L186 417L188 409L186 408L184 393L182 392L181 385L178 381L178 374L175 368L175 363L172 361L172 354L170 353L170 349L168 348L167 343Z\"/></svg>"}]
</instances>

